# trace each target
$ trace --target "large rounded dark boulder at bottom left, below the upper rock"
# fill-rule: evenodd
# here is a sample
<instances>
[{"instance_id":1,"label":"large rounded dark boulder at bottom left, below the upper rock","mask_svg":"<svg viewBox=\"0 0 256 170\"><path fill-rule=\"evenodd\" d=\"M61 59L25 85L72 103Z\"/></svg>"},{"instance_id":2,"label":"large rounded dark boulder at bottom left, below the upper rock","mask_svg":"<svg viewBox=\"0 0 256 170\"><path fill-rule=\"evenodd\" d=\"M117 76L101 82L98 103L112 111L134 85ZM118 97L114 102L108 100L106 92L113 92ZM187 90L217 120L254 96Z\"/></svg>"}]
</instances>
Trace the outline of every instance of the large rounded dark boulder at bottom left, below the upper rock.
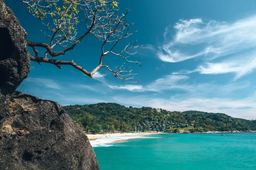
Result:
<instances>
[{"instance_id":1,"label":"large rounded dark boulder at bottom left, below the upper rock","mask_svg":"<svg viewBox=\"0 0 256 170\"><path fill-rule=\"evenodd\" d=\"M57 102L0 94L1 170L99 170L87 136Z\"/></svg>"}]
</instances>

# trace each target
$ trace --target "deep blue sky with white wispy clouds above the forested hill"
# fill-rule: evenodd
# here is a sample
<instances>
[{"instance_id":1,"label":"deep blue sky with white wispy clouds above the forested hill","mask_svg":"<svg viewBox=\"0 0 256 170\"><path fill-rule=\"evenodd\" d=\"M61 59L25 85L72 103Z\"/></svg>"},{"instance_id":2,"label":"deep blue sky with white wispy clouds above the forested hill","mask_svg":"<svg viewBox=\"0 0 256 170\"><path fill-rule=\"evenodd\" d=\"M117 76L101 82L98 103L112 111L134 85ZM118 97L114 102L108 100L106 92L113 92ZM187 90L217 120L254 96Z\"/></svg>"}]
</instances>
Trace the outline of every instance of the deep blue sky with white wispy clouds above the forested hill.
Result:
<instances>
[{"instance_id":1,"label":"deep blue sky with white wispy clouds above the forested hill","mask_svg":"<svg viewBox=\"0 0 256 170\"><path fill-rule=\"evenodd\" d=\"M27 31L27 40L47 42L41 22L24 4L6 0L6 5ZM120 0L119 8L130 8L128 21L138 30L129 40L143 44L134 56L143 57L142 67L130 64L140 71L135 77L139 83L122 84L104 68L91 79L72 66L59 70L31 62L28 79L18 90L62 105L116 102L256 119L255 0ZM124 40L123 47L127 43ZM99 62L101 45L88 36L55 59L73 59L91 71ZM104 62L113 68L124 61L108 56Z\"/></svg>"}]
</instances>

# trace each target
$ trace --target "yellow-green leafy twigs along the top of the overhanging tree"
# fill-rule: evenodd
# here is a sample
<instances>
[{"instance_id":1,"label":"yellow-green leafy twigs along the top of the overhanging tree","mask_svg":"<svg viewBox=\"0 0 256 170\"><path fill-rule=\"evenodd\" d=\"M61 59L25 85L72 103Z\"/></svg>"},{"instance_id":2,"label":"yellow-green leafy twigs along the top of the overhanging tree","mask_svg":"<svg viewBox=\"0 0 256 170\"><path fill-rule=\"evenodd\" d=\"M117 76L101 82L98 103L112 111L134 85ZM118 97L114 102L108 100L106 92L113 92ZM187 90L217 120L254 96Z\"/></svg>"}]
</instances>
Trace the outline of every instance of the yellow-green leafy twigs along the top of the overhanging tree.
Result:
<instances>
[{"instance_id":1,"label":"yellow-green leafy twigs along the top of the overhanging tree","mask_svg":"<svg viewBox=\"0 0 256 170\"><path fill-rule=\"evenodd\" d=\"M48 37L55 36L54 40L75 40L77 31L76 27L79 23L79 11L88 11L85 14L93 14L93 10L101 8L101 12L107 8L118 7L117 0L95 0L88 2L86 0L21 0L28 5L29 12L46 23L47 31L51 33L44 33ZM124 16L124 14L122 14ZM119 22L119 21L118 21ZM56 32L58 31L58 32ZM55 39L56 38L56 39Z\"/></svg>"}]
</instances>

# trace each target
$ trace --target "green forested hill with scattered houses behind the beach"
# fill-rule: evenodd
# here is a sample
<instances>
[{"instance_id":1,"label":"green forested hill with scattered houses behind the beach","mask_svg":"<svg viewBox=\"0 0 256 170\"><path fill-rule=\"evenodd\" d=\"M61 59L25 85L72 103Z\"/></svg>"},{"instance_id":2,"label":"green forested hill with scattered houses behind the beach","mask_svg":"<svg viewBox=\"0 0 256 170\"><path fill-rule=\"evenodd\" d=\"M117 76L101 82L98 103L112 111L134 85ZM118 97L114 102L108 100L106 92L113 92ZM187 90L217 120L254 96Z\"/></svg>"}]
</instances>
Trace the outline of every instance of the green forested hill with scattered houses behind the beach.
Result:
<instances>
[{"instance_id":1,"label":"green forested hill with scattered houses behind the beach","mask_svg":"<svg viewBox=\"0 0 256 170\"><path fill-rule=\"evenodd\" d=\"M223 113L166 111L149 107L126 108L116 103L63 107L88 133L110 131L247 131L256 130L256 120L238 119Z\"/></svg>"}]
</instances>

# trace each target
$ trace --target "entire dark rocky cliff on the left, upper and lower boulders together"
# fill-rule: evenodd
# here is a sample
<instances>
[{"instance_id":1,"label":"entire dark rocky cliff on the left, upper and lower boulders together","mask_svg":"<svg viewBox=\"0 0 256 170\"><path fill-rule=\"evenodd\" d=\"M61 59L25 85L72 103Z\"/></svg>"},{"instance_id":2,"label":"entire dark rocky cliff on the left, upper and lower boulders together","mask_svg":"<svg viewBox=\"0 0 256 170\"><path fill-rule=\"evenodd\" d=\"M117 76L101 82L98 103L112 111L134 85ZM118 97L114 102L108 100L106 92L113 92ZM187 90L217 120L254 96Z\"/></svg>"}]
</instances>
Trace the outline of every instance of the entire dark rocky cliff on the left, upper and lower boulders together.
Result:
<instances>
[{"instance_id":1,"label":"entire dark rocky cliff on the left, upper and lower boulders together","mask_svg":"<svg viewBox=\"0 0 256 170\"><path fill-rule=\"evenodd\" d=\"M87 136L61 105L15 92L29 73L26 37L0 0L0 170L99 170Z\"/></svg>"}]
</instances>

